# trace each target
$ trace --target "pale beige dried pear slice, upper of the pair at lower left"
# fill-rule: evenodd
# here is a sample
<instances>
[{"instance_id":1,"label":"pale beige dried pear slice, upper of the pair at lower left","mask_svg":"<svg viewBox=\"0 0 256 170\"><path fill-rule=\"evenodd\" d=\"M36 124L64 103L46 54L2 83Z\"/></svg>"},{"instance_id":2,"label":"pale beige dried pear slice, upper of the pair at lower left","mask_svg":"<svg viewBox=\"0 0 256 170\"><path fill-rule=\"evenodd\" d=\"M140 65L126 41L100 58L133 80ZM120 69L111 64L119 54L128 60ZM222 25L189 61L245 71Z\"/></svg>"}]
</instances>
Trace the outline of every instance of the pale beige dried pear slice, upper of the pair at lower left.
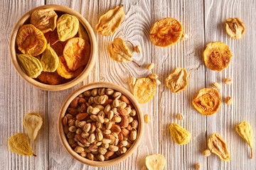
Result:
<instances>
[{"instance_id":1,"label":"pale beige dried pear slice, upper of the pair at lower left","mask_svg":"<svg viewBox=\"0 0 256 170\"><path fill-rule=\"evenodd\" d=\"M36 140L42 125L43 118L38 113L27 113L23 118L23 126L28 133L28 138L31 140Z\"/></svg>"}]
</instances>

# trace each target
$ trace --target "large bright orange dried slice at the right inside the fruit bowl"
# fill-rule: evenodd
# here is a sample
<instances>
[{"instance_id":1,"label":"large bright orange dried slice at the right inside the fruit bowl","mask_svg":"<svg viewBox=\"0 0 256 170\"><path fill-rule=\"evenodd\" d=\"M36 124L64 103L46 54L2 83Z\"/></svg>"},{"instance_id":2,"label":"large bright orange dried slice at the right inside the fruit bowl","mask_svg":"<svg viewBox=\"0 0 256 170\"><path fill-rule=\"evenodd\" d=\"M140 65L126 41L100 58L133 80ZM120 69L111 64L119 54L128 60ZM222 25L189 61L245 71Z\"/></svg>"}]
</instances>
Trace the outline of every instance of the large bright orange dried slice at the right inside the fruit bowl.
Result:
<instances>
[{"instance_id":1,"label":"large bright orange dried slice at the right inside the fruit bowl","mask_svg":"<svg viewBox=\"0 0 256 170\"><path fill-rule=\"evenodd\" d=\"M64 47L63 55L68 68L75 71L87 64L90 58L90 44L82 38L71 38Z\"/></svg>"}]
</instances>

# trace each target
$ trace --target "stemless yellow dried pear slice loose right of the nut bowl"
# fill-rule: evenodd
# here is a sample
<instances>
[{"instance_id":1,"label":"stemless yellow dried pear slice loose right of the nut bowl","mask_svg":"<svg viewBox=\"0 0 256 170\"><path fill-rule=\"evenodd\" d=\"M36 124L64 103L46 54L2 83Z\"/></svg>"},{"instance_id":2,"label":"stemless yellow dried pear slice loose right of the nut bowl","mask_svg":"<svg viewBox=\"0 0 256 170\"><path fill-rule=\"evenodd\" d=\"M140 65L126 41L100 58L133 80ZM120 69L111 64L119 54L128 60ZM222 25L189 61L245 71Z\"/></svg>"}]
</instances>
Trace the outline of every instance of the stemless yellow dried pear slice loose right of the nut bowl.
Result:
<instances>
[{"instance_id":1,"label":"stemless yellow dried pear slice loose right of the nut bowl","mask_svg":"<svg viewBox=\"0 0 256 170\"><path fill-rule=\"evenodd\" d=\"M177 123L172 123L169 129L176 144L186 145L191 140L191 132L188 132Z\"/></svg>"}]
</instances>

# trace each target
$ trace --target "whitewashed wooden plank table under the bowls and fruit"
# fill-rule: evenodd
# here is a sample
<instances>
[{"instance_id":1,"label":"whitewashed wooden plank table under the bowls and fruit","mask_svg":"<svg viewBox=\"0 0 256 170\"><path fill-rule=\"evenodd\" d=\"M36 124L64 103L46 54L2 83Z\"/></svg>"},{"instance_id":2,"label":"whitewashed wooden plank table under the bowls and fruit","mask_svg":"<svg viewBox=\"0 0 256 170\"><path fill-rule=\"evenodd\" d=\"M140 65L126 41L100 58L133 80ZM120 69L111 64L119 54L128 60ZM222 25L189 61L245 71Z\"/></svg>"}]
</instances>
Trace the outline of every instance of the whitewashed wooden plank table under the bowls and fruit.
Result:
<instances>
[{"instance_id":1,"label":"whitewashed wooden plank table under the bowls and fruit","mask_svg":"<svg viewBox=\"0 0 256 170\"><path fill-rule=\"evenodd\" d=\"M99 45L95 68L81 84L65 91L43 91L21 79L9 56L11 30L26 11L44 4L60 4L82 13L95 30L98 18L117 5L124 5L126 16L117 32L102 36L95 32ZM256 149L250 159L248 145L235 132L235 125L243 120L256 132L256 1L159 0L159 1L65 1L65 0L1 0L0 1L0 169L146 169L144 159L149 154L163 154L166 169L193 169L200 162L203 169L255 169ZM156 47L149 40L151 25L161 18L172 17L181 21L188 34L186 41L171 47ZM245 23L241 40L232 40L225 32L225 19L239 17ZM120 37L133 45L141 45L142 53L134 54L133 62L121 64L107 55L107 45ZM203 50L208 42L221 41L230 47L233 58L227 69L213 72L203 62ZM60 144L57 118L65 98L78 87L95 81L107 81L129 89L129 77L146 77L151 71L146 64L156 64L152 72L159 75L162 85L149 103L142 104L144 114L151 116L145 125L141 145L131 157L115 166L97 168L81 164L71 157ZM164 85L166 77L176 67L188 70L185 91L173 94ZM231 77L233 84L224 85L223 79ZM222 104L218 113L203 116L193 108L191 101L203 87L213 81L222 84L222 98L233 96L233 105ZM35 142L31 142L37 157L24 157L9 151L7 140L16 132L25 132L23 116L37 112L43 116L43 127ZM184 121L176 119L183 113ZM176 145L169 132L170 123L178 123L192 132L188 145ZM208 137L218 132L228 142L230 162L222 162L216 155L206 158L201 152L207 148ZM254 142L255 143L255 142Z\"/></svg>"}]
</instances>

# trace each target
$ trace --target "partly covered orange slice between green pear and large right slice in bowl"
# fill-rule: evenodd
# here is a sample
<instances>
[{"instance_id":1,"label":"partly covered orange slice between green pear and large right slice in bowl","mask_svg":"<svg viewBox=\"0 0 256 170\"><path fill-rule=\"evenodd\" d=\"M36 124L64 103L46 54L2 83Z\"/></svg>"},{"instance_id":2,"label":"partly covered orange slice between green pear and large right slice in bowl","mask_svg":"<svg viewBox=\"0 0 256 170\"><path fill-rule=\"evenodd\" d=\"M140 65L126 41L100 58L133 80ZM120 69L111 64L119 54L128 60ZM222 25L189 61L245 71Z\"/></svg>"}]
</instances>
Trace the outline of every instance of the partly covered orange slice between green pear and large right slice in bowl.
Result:
<instances>
[{"instance_id":1,"label":"partly covered orange slice between green pear and large right slice in bowl","mask_svg":"<svg viewBox=\"0 0 256 170\"><path fill-rule=\"evenodd\" d=\"M79 74L82 72L82 70L83 70L83 67L79 67L75 71L71 71L66 64L65 58L63 57L63 55L59 57L57 72L61 77L64 77L65 79L78 77Z\"/></svg>"}]
</instances>

